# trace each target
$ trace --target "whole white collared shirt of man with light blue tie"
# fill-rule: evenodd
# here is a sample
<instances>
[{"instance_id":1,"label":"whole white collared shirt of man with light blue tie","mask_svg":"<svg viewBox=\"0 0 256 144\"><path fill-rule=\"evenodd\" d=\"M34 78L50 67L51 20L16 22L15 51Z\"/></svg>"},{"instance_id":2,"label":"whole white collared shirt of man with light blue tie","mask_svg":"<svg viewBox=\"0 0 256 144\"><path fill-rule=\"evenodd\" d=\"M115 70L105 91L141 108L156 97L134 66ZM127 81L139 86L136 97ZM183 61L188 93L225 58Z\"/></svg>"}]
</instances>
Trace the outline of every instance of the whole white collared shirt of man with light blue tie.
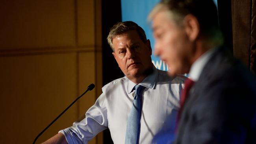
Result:
<instances>
[{"instance_id":1,"label":"whole white collared shirt of man with light blue tie","mask_svg":"<svg viewBox=\"0 0 256 144\"><path fill-rule=\"evenodd\" d=\"M140 144L173 142L184 80L183 76L170 78L167 72L153 66L152 74L139 83L146 87L142 98ZM87 144L100 131L109 128L113 142L124 144L135 85L126 77L108 83L96 103L85 113L85 118L59 132L65 135L69 144Z\"/></svg>"}]
</instances>

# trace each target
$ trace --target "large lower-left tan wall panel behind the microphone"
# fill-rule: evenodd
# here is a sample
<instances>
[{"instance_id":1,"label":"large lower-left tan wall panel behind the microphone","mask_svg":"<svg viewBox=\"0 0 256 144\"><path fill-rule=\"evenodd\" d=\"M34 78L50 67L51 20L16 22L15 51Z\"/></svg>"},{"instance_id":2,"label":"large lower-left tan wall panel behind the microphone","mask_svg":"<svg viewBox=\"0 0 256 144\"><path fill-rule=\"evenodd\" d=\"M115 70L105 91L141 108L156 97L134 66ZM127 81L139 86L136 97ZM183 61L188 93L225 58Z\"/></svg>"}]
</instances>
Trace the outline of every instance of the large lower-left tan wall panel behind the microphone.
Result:
<instances>
[{"instance_id":1,"label":"large lower-left tan wall panel behind the microphone","mask_svg":"<svg viewBox=\"0 0 256 144\"><path fill-rule=\"evenodd\" d=\"M29 144L77 94L76 54L0 57L1 144ZM37 143L71 126L73 105Z\"/></svg>"}]
</instances>

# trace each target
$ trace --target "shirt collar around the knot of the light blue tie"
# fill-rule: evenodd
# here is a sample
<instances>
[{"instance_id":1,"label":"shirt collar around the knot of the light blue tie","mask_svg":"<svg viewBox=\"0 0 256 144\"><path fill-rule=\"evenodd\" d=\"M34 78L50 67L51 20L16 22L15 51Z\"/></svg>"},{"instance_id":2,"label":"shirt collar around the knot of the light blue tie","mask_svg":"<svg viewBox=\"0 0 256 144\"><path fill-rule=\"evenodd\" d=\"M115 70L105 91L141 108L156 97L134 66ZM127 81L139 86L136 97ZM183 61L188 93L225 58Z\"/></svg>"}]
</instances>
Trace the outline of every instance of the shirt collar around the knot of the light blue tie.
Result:
<instances>
[{"instance_id":1,"label":"shirt collar around the knot of the light blue tie","mask_svg":"<svg viewBox=\"0 0 256 144\"><path fill-rule=\"evenodd\" d=\"M143 81L141 81L141 83L139 83L139 85L147 87L148 89L154 89L154 87L156 85L158 70L156 69L156 67L154 65L152 67L153 67L153 72L151 74L149 74L145 79L143 79ZM136 85L136 83L134 83L128 79L128 84L126 87L127 94L130 94L132 92L135 85Z\"/></svg>"}]
</instances>

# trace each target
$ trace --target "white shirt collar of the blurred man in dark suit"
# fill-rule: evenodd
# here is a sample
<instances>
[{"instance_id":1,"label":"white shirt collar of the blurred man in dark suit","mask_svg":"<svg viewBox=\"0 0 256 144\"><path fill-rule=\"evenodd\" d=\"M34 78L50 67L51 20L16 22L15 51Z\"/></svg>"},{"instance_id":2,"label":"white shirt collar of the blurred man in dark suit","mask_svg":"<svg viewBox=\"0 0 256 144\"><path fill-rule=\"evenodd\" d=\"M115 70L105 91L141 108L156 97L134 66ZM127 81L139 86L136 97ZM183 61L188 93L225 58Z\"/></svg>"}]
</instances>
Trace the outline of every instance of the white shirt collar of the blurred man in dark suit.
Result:
<instances>
[{"instance_id":1,"label":"white shirt collar of the blurred man in dark suit","mask_svg":"<svg viewBox=\"0 0 256 144\"><path fill-rule=\"evenodd\" d=\"M193 81L199 79L200 74L216 48L212 48L201 55L192 65L189 71L189 78Z\"/></svg>"}]
</instances>

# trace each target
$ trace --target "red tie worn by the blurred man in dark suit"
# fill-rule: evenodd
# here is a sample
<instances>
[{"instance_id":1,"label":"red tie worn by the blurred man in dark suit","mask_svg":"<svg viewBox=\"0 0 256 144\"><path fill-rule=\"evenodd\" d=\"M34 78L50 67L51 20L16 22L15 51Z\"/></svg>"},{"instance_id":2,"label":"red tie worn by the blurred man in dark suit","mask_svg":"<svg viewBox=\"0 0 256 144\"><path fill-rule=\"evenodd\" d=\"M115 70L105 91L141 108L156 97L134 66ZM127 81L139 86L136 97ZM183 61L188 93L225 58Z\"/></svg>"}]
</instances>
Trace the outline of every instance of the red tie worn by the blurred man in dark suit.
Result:
<instances>
[{"instance_id":1,"label":"red tie worn by the blurred man in dark suit","mask_svg":"<svg viewBox=\"0 0 256 144\"><path fill-rule=\"evenodd\" d=\"M181 98L180 98L180 110L178 112L178 116L177 116L177 120L176 120L176 130L177 130L177 126L178 126L178 122L180 120L180 116L181 116L181 113L182 113L182 109L184 107L184 103L187 99L187 96L189 94L189 90L191 89L191 87L193 86L195 82L192 81L191 79L186 79L185 81L185 87L184 89L182 90L182 93L181 93Z\"/></svg>"}]
</instances>

